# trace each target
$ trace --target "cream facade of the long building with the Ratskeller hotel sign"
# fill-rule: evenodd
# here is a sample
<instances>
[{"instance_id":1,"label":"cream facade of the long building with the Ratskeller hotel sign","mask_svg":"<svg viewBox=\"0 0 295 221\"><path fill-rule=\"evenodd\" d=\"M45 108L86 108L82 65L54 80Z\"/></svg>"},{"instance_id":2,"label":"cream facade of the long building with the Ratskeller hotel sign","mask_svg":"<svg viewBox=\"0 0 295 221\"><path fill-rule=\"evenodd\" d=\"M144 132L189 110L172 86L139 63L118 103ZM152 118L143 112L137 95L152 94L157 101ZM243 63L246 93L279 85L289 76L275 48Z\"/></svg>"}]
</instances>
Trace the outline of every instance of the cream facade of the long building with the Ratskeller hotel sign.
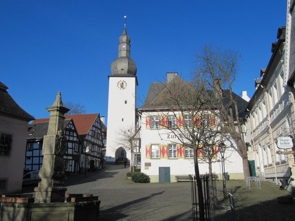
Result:
<instances>
[{"instance_id":1,"label":"cream facade of the long building with the Ratskeller hotel sign","mask_svg":"<svg viewBox=\"0 0 295 221\"><path fill-rule=\"evenodd\" d=\"M284 154L288 150L278 149L276 144L278 138L294 133L294 99L284 80L285 34L286 27L278 29L278 42L272 43L273 54L267 68L260 71L262 79L255 84L257 89L247 110L256 174L293 192L295 185L290 170L293 154Z\"/></svg>"}]
</instances>

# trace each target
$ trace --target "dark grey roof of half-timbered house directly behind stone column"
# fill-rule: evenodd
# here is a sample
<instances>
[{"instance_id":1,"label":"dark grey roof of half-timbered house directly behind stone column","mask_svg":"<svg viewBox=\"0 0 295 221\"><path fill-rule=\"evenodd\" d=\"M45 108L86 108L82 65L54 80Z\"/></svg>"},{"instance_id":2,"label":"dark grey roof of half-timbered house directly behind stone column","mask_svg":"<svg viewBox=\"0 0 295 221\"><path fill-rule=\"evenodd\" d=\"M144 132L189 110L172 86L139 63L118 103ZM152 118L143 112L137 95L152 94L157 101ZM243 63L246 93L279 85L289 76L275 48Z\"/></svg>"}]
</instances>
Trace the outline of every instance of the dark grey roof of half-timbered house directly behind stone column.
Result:
<instances>
[{"instance_id":1,"label":"dark grey roof of half-timbered house directly behind stone column","mask_svg":"<svg viewBox=\"0 0 295 221\"><path fill-rule=\"evenodd\" d=\"M49 120L49 118L48 118ZM72 119L67 119L64 121L64 129L71 122ZM30 123L28 126L28 136L27 139L37 139L41 140L45 135L47 135L49 121L39 122L39 123ZM35 130L32 134L30 134Z\"/></svg>"}]
</instances>

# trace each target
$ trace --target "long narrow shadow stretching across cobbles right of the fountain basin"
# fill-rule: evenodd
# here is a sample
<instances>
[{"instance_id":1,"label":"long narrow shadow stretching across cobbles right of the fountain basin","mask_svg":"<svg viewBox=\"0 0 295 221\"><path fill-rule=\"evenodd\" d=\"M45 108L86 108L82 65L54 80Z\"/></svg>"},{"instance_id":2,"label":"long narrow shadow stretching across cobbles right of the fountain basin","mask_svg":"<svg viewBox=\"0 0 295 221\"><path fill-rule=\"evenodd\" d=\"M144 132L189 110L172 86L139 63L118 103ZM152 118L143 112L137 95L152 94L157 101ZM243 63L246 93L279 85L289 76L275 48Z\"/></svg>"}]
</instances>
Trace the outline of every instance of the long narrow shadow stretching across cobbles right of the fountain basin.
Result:
<instances>
[{"instance_id":1,"label":"long narrow shadow stretching across cobbles right of the fountain basin","mask_svg":"<svg viewBox=\"0 0 295 221\"><path fill-rule=\"evenodd\" d=\"M142 198L130 201L130 202L123 203L123 204L118 205L118 206L111 207L111 208L106 209L106 210L101 210L99 212L99 220L101 220L101 221L106 221L106 220L107 221L115 221L115 220L125 218L128 215L125 215L125 214L119 212L119 210L122 210L122 209L124 209L124 208L126 208L126 207L128 207L128 206L130 206L132 204L137 204L137 203L140 203L140 202L142 202L144 200L150 199L151 197L163 194L164 192L165 191L158 192L158 193L153 193L153 194L150 194L147 197L142 197Z\"/></svg>"}]
</instances>

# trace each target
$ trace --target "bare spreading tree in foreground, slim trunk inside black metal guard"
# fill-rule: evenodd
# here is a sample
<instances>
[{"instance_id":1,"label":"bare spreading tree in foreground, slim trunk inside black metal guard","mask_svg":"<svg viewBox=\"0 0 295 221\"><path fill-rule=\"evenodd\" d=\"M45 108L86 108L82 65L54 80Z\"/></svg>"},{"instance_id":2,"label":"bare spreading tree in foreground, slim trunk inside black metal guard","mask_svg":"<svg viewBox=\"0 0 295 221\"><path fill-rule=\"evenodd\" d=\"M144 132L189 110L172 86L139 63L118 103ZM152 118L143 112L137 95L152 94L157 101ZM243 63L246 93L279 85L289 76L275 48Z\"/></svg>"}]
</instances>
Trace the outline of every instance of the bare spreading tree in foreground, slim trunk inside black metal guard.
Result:
<instances>
[{"instance_id":1,"label":"bare spreading tree in foreground, slim trunk inside black metal guard","mask_svg":"<svg viewBox=\"0 0 295 221\"><path fill-rule=\"evenodd\" d=\"M204 199L199 163L208 163L211 173L212 163L218 160L220 152L230 146L228 140L231 140L228 127L220 118L224 113L219 96L209 89L201 78L197 78L196 82L187 82L177 76L141 108L145 112L150 110L148 121L151 125L163 129L158 130L162 140L176 143L177 149L193 155L201 220L204 218ZM159 118L153 117L154 111L160 115ZM172 136L167 136L171 133ZM175 150L170 151L173 153Z\"/></svg>"}]
</instances>

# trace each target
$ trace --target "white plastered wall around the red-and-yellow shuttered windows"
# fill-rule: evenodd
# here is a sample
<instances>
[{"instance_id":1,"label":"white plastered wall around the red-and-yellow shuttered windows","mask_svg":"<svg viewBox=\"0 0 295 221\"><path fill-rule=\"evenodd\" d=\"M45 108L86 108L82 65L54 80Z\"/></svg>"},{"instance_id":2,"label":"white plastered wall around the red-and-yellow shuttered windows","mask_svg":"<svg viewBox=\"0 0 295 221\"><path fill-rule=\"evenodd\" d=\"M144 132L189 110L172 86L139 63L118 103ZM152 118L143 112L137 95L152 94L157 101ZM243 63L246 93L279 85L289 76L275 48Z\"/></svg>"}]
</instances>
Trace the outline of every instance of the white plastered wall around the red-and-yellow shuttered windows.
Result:
<instances>
[{"instance_id":1,"label":"white plastered wall around the red-and-yellow shuttered windows","mask_svg":"<svg viewBox=\"0 0 295 221\"><path fill-rule=\"evenodd\" d=\"M165 129L146 129L146 116L157 115L157 112L142 113L142 137L141 137L141 171L151 177L151 182L159 182L159 167L170 167L171 182L175 182L175 175L195 174L194 161L189 159L147 159L146 145L149 144L169 144L173 143L173 138L167 138L169 131ZM160 135L161 134L161 135ZM243 165L239 149L235 142L231 142L232 147L228 148L224 154L227 158L225 161L225 171L230 175L230 179L243 179ZM220 154L219 154L220 155ZM220 157L220 156L219 156ZM199 172L205 174L209 171L208 164L199 161ZM147 163L147 164L146 164ZM150 166L146 166L149 165ZM222 179L221 162L212 164L212 172L219 174L219 179Z\"/></svg>"}]
</instances>

